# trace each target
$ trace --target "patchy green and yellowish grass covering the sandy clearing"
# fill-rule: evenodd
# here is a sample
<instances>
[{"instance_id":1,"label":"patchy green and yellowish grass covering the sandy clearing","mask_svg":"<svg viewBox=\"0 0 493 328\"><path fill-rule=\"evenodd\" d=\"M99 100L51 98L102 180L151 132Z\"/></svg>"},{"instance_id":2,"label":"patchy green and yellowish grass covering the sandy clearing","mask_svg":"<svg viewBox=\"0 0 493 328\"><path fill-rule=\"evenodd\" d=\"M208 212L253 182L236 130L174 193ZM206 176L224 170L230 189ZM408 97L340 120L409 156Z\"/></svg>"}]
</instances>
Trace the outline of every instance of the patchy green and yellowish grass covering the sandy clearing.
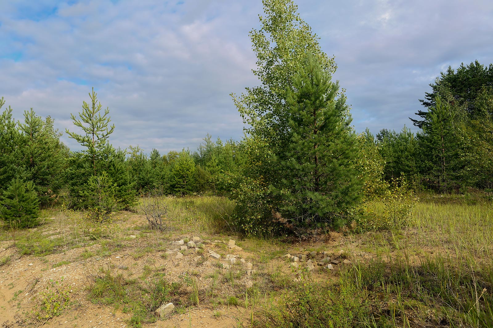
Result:
<instances>
[{"instance_id":1,"label":"patchy green and yellowish grass covering the sandy clearing","mask_svg":"<svg viewBox=\"0 0 493 328\"><path fill-rule=\"evenodd\" d=\"M341 271L283 269L288 262L282 256L289 248L320 251L327 250L327 244L222 235L231 233L228 222L234 203L196 196L159 199L167 208L164 231L150 229L146 222L137 226L126 222L124 213L117 213L110 226L99 229L85 222L82 213L51 210L47 215L55 219L46 219L36 229L0 232L17 251L0 258L0 267L19 255L43 258L76 247L84 247L79 255L84 260L127 254L142 265L137 278L128 272L103 270L88 277L87 295L93 303L131 313L133 327L155 321L154 310L168 301L175 302L177 311L211 306L217 316L225 316L216 309L218 304L241 306L255 327L493 327L492 204L465 196L437 199L416 204L410 224L400 229L345 231L339 244L333 242L335 252L344 249L344 258L352 261ZM381 207L374 204L373 209L378 212ZM246 270L240 264L228 270L213 267L212 272L200 275L197 268L208 259L207 250L198 253L205 256L197 268L183 275L182 284L165 279L164 269L153 262L160 259L156 253L169 248L172 238L197 235L236 239L252 254L246 260L254 263L256 272L247 279L254 287L244 289ZM223 243L215 247L223 255L230 252ZM52 267L69 263L61 261ZM294 274L299 278L296 282ZM346 317L341 321L343 310Z\"/></svg>"}]
</instances>

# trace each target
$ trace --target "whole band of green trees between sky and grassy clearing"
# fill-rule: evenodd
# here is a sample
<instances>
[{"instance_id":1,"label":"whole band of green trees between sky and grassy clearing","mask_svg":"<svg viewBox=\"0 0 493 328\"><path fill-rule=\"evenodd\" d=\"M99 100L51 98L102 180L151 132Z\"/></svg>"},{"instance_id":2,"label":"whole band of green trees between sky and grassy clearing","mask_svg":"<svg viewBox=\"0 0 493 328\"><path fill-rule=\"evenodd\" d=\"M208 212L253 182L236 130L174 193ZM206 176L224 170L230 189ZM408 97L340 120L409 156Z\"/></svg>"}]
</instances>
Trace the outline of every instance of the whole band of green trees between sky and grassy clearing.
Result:
<instances>
[{"instance_id":1,"label":"whole band of green trees between sky and grassy clearing","mask_svg":"<svg viewBox=\"0 0 493 328\"><path fill-rule=\"evenodd\" d=\"M104 221L132 209L140 194L213 194L236 201L233 224L252 234L305 232L351 222L358 205L402 187L434 192L493 188L493 64L449 67L411 119L420 131L357 134L337 66L292 0L263 0L260 28L250 31L261 85L233 101L245 122L241 141L212 140L196 151L147 155L115 149L109 109L94 89L78 116L84 150L60 142L53 119L10 107L0 117L1 217L35 224L38 207L65 203ZM3 98L0 108L4 106ZM392 189L394 190L394 189Z\"/></svg>"}]
</instances>

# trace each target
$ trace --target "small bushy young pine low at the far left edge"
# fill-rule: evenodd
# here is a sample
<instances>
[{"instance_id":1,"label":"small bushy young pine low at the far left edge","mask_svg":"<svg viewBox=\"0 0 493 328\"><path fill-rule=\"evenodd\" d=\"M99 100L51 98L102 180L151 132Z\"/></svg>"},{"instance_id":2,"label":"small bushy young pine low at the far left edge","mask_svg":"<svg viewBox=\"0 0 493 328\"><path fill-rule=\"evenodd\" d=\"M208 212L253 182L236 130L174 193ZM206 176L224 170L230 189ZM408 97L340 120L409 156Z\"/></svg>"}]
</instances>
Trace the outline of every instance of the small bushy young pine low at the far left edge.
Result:
<instances>
[{"instance_id":1,"label":"small bushy young pine low at the far left edge","mask_svg":"<svg viewBox=\"0 0 493 328\"><path fill-rule=\"evenodd\" d=\"M0 216L11 228L32 228L38 224L39 201L32 181L16 178L0 198Z\"/></svg>"}]
</instances>

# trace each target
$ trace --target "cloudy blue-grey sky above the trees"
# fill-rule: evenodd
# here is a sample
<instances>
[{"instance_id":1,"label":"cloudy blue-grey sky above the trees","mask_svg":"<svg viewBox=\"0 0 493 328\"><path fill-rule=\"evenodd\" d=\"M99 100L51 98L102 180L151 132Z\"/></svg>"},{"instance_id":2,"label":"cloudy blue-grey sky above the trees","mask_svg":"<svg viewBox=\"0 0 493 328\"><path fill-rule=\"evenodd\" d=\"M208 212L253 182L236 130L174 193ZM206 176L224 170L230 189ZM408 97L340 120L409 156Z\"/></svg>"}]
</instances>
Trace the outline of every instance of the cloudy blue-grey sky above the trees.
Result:
<instances>
[{"instance_id":1,"label":"cloudy blue-grey sky above the trees","mask_svg":"<svg viewBox=\"0 0 493 328\"><path fill-rule=\"evenodd\" d=\"M335 56L357 132L417 131L408 117L440 72L493 62L491 0L295 2ZM70 114L94 87L116 148L165 154L193 151L208 133L241 140L230 93L259 84L248 32L262 13L260 0L0 0L0 97L16 119L33 108L81 133Z\"/></svg>"}]
</instances>

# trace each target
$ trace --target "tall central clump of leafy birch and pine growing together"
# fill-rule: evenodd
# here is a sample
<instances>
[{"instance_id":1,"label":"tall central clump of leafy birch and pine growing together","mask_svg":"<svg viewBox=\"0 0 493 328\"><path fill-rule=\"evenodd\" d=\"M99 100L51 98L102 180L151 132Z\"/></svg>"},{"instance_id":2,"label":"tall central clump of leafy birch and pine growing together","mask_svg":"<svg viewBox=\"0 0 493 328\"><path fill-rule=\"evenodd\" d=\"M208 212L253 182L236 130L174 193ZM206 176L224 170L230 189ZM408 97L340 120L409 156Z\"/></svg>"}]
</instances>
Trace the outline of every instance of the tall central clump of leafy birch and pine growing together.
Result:
<instances>
[{"instance_id":1,"label":"tall central clump of leafy birch and pine growing together","mask_svg":"<svg viewBox=\"0 0 493 328\"><path fill-rule=\"evenodd\" d=\"M340 223L359 197L355 136L332 58L291 0L264 0L250 32L261 87L233 100L249 137L231 179L236 225L247 234ZM320 107L317 107L320 106ZM336 218L337 217L337 218Z\"/></svg>"}]
</instances>

